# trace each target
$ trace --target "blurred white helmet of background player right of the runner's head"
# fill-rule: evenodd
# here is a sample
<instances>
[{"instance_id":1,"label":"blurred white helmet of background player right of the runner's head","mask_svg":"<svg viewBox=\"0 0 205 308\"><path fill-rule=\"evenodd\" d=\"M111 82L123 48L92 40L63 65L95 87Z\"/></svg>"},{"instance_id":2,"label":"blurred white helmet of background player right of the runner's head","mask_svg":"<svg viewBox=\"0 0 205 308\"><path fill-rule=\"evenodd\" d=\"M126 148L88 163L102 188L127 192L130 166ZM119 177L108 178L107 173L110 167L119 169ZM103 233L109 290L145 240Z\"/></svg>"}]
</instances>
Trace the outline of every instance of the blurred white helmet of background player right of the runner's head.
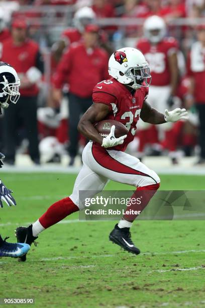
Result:
<instances>
[{"instance_id":1,"label":"blurred white helmet of background player right of the runner's head","mask_svg":"<svg viewBox=\"0 0 205 308\"><path fill-rule=\"evenodd\" d=\"M166 24L159 16L148 17L144 23L144 36L152 43L160 42L166 35Z\"/></svg>"}]
</instances>

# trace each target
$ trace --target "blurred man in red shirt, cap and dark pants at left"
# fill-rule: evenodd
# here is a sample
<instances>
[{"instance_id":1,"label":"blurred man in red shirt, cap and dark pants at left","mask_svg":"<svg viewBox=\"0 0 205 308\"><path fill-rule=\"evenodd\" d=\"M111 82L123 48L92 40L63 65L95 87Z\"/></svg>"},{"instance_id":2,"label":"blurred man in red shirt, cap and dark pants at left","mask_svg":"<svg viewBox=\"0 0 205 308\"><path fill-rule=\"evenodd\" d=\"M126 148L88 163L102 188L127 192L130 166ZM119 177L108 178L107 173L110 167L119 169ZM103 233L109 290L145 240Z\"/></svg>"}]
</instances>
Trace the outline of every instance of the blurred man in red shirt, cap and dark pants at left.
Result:
<instances>
[{"instance_id":1,"label":"blurred man in red shirt, cap and dark pants at left","mask_svg":"<svg viewBox=\"0 0 205 308\"><path fill-rule=\"evenodd\" d=\"M5 111L5 151L10 165L15 164L17 119L22 117L29 139L29 155L35 164L40 163L37 129L38 82L44 70L39 46L27 36L23 20L12 23L12 38L3 44L2 59L15 66L21 79L19 104Z\"/></svg>"}]
</instances>

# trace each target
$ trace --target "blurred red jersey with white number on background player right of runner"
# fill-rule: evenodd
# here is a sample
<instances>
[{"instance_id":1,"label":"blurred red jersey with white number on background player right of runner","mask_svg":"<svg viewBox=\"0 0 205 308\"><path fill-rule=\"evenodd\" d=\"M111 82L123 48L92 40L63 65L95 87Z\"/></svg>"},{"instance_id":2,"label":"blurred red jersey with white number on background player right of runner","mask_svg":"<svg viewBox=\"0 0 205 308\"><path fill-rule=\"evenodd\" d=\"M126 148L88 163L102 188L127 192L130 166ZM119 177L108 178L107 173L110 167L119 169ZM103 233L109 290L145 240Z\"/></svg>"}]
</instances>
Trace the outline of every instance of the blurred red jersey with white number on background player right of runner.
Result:
<instances>
[{"instance_id":1,"label":"blurred red jersey with white number on background player right of runner","mask_svg":"<svg viewBox=\"0 0 205 308\"><path fill-rule=\"evenodd\" d=\"M152 86L168 86L170 84L170 70L168 56L177 52L178 42L173 37L164 38L157 44L151 44L148 39L138 41L140 49L150 65Z\"/></svg>"}]
</instances>

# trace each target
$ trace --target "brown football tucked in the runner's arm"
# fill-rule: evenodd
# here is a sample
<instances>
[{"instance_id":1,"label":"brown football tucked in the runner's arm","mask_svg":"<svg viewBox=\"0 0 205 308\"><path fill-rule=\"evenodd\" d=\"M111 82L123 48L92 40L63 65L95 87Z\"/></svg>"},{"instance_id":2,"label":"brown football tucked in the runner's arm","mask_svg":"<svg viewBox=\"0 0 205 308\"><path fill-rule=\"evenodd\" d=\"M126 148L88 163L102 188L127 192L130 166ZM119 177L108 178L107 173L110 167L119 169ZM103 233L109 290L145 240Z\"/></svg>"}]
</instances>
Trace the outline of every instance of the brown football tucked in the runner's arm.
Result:
<instances>
[{"instance_id":1,"label":"brown football tucked in the runner's arm","mask_svg":"<svg viewBox=\"0 0 205 308\"><path fill-rule=\"evenodd\" d=\"M106 137L110 134L111 127L115 125L115 137L119 138L121 136L127 135L128 134L128 129L127 127L115 120L102 120L95 124L96 130L99 132L99 134L102 137Z\"/></svg>"}]
</instances>

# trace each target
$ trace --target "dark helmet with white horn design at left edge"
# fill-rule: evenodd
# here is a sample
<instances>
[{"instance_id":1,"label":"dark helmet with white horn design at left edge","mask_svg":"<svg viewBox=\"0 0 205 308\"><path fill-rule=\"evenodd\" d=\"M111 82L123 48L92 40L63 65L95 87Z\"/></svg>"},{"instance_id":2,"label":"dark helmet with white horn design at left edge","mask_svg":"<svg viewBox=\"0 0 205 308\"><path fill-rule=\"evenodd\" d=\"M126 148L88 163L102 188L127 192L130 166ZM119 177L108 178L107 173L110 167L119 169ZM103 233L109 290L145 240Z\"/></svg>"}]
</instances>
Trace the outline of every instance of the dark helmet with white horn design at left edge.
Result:
<instances>
[{"instance_id":1,"label":"dark helmet with white horn design at left edge","mask_svg":"<svg viewBox=\"0 0 205 308\"><path fill-rule=\"evenodd\" d=\"M14 67L0 62L0 107L8 108L10 103L17 103L20 97L19 86L20 79Z\"/></svg>"}]
</instances>

